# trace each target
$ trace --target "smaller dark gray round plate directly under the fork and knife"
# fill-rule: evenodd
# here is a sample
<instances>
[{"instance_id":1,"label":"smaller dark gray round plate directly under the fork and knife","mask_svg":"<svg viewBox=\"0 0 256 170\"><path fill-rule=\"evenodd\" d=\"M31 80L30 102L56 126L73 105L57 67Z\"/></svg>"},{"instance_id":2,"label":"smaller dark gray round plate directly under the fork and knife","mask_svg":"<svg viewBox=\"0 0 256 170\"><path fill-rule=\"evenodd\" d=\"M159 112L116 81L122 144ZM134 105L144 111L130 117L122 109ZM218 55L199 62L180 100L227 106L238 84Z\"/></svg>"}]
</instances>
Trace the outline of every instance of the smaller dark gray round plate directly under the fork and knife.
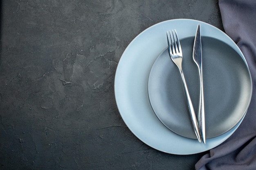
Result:
<instances>
[{"instance_id":1,"label":"smaller dark gray round plate directly under the fork and knife","mask_svg":"<svg viewBox=\"0 0 256 170\"><path fill-rule=\"evenodd\" d=\"M195 108L198 110L199 75L193 62L194 37L180 41L182 68ZM228 44L202 37L206 138L233 128L249 106L252 84L247 64ZM168 49L155 60L148 79L150 104L162 123L173 132L196 139L191 128L182 79Z\"/></svg>"}]
</instances>

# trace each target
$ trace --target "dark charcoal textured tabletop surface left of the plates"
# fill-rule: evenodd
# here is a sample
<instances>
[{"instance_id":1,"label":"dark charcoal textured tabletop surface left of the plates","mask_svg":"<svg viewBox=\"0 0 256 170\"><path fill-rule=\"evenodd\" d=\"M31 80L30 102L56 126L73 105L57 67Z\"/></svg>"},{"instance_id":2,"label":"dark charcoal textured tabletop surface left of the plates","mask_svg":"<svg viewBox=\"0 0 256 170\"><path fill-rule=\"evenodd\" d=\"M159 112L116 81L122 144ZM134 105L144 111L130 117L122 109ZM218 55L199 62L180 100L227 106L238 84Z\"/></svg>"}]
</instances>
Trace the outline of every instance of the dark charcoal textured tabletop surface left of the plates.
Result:
<instances>
[{"instance_id":1,"label":"dark charcoal textured tabletop surface left of the plates","mask_svg":"<svg viewBox=\"0 0 256 170\"><path fill-rule=\"evenodd\" d=\"M141 31L192 18L222 28L217 0L2 0L0 169L191 170L137 139L114 96Z\"/></svg>"}]
</instances>

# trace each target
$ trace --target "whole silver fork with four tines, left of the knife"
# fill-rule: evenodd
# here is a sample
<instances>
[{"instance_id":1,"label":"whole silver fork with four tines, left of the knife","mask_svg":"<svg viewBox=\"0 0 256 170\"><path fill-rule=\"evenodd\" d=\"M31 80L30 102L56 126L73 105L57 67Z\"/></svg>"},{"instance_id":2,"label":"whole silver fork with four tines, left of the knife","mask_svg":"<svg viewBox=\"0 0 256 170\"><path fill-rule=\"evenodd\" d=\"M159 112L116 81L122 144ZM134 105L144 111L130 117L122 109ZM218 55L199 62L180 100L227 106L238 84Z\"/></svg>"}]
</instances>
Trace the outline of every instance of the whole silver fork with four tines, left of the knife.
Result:
<instances>
[{"instance_id":1,"label":"whole silver fork with four tines, left of the knife","mask_svg":"<svg viewBox=\"0 0 256 170\"><path fill-rule=\"evenodd\" d=\"M169 35L168 35L168 31L167 31L167 42L168 42L169 55L171 57L171 60L173 60L173 62L179 68L180 75L182 77L182 82L184 85L185 94L186 94L186 101L188 104L188 110L189 110L189 115L191 118L191 124L192 124L193 130L195 132L195 136L197 137L198 141L201 142L199 130L198 130L198 121L195 116L195 110L193 108L193 104L192 104L192 101L191 101L191 98L189 95L189 90L186 85L184 73L182 71L182 50L181 50L181 46L180 46L180 40L178 38L176 30L174 30L174 32L175 32L175 36L174 36L173 30L169 31Z\"/></svg>"}]
</instances>

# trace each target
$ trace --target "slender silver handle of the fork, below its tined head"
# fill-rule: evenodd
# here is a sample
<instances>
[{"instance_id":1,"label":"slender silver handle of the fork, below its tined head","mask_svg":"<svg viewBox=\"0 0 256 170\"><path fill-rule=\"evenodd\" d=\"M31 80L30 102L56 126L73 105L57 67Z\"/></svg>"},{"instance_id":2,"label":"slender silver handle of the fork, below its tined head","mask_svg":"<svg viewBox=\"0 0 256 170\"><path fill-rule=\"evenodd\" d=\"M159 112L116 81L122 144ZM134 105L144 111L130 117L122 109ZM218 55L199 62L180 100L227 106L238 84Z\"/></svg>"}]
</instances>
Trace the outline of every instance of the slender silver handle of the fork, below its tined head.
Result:
<instances>
[{"instance_id":1,"label":"slender silver handle of the fork, below its tined head","mask_svg":"<svg viewBox=\"0 0 256 170\"><path fill-rule=\"evenodd\" d=\"M182 69L180 69L180 74L181 74L181 77L182 77L182 82L183 82L184 90L185 90L185 94L186 94L186 101L187 101L187 104L188 104L189 115L190 115L190 118L191 118L191 124L192 124L193 130L195 132L195 136L197 137L198 141L201 142L200 135L199 135L199 130L198 130L198 121L197 121L196 116L195 116L195 110L194 110L194 107L193 107L193 104L192 104L192 101L191 101L191 98L190 98L190 95L189 95L189 90L187 88L186 80L185 80L184 73L183 73Z\"/></svg>"}]
</instances>

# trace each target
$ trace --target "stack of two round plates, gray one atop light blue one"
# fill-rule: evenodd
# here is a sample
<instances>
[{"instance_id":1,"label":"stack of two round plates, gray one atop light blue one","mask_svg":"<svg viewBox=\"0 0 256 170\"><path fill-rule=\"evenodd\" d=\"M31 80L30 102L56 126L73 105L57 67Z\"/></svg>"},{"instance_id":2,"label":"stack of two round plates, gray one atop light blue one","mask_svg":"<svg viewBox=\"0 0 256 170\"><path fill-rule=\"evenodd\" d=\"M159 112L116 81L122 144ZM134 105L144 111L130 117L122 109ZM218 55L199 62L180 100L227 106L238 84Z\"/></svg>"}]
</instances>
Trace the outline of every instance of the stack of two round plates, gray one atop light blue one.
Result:
<instances>
[{"instance_id":1,"label":"stack of two round plates, gray one atop light blue one","mask_svg":"<svg viewBox=\"0 0 256 170\"><path fill-rule=\"evenodd\" d=\"M206 144L195 139L182 80L166 49L166 31L176 29L196 111L199 75L192 50L199 23ZM243 120L251 96L252 79L243 53L224 32L197 20L168 20L140 33L121 56L115 75L117 107L128 128L148 146L177 155L204 152L225 141Z\"/></svg>"}]
</instances>

